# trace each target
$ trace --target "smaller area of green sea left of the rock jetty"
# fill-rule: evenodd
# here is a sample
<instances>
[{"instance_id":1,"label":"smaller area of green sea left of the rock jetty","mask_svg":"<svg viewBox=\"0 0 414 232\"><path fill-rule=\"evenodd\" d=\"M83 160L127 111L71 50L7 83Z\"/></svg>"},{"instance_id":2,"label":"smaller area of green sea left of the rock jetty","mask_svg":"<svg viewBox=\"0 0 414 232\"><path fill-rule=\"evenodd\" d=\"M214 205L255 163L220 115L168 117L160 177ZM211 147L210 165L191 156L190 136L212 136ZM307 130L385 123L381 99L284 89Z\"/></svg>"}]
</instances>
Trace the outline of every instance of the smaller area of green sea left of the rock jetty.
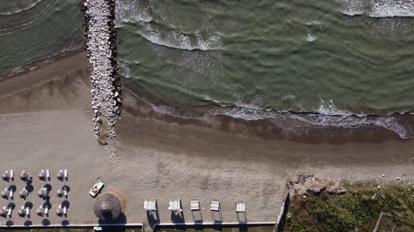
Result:
<instances>
[{"instance_id":1,"label":"smaller area of green sea left of the rock jetty","mask_svg":"<svg viewBox=\"0 0 414 232\"><path fill-rule=\"evenodd\" d=\"M78 0L11 0L0 4L0 75L82 43Z\"/></svg>"}]
</instances>

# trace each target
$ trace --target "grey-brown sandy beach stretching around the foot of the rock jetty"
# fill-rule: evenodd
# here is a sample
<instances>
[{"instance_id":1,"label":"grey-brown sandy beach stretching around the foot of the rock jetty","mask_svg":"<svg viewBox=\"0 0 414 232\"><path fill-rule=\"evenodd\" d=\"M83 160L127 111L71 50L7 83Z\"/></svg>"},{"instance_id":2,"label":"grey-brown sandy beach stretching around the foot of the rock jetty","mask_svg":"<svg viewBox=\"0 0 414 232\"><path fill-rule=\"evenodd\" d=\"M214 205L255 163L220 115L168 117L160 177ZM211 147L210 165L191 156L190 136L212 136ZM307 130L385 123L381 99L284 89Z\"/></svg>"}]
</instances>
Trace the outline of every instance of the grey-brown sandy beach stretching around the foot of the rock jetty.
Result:
<instances>
[{"instance_id":1,"label":"grey-brown sandy beach stretching around the foot of the rock jetty","mask_svg":"<svg viewBox=\"0 0 414 232\"><path fill-rule=\"evenodd\" d=\"M103 191L117 189L125 195L126 222L152 224L142 208L148 197L157 198L159 222L193 222L189 199L194 197L204 208L203 222L213 220L212 198L220 200L224 222L236 222L236 200L246 201L249 222L276 221L286 181L298 173L351 180L414 177L413 139L366 129L356 137L348 133L325 140L335 133L326 129L329 132L314 133L314 140L304 141L283 130L268 131L262 122L157 113L127 91L116 141L98 145L90 89L85 52L72 52L0 82L0 171L13 169L16 175L15 182L1 180L0 188L13 184L20 191L25 187L18 178L22 170L36 176L51 169L51 224L98 222L88 195L98 178L105 182ZM67 218L55 215L65 200L55 195L63 186L55 177L60 169L69 171ZM25 201L15 196L10 219L14 224L46 223L35 215L44 203L36 192L44 184L35 178L28 198L34 205L30 219L18 217ZM182 200L183 217L168 210L168 201L177 197ZM0 199L1 207L7 204ZM8 220L1 218L0 223Z\"/></svg>"}]
</instances>

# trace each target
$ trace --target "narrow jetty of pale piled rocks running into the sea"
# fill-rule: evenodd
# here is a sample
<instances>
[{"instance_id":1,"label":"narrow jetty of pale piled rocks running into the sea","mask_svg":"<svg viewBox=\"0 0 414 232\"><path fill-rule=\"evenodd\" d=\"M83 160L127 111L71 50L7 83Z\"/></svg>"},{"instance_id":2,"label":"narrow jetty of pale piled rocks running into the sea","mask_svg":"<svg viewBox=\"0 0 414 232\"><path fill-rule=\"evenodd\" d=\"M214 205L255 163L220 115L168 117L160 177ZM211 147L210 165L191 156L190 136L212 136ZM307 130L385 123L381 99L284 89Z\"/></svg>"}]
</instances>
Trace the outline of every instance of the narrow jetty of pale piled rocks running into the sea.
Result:
<instances>
[{"instance_id":1,"label":"narrow jetty of pale piled rocks running into the sea","mask_svg":"<svg viewBox=\"0 0 414 232\"><path fill-rule=\"evenodd\" d=\"M114 0L83 0L84 47L91 69L95 138L102 145L116 138L121 115L121 82L116 65Z\"/></svg>"}]
</instances>

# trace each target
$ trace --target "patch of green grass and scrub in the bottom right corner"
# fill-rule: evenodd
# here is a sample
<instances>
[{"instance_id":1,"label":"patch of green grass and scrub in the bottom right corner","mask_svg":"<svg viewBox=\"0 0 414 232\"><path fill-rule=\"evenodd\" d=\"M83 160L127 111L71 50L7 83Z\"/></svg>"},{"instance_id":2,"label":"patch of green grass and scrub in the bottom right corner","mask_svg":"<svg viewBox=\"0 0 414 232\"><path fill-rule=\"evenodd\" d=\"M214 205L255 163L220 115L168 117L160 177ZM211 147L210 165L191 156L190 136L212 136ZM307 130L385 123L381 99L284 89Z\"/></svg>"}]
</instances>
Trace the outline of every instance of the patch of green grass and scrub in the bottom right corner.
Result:
<instances>
[{"instance_id":1,"label":"patch of green grass and scrub in the bottom right corner","mask_svg":"<svg viewBox=\"0 0 414 232\"><path fill-rule=\"evenodd\" d=\"M293 196L284 231L373 231L381 212L394 232L414 231L414 186L403 182L343 182L347 194ZM390 221L391 220L391 221Z\"/></svg>"}]
</instances>

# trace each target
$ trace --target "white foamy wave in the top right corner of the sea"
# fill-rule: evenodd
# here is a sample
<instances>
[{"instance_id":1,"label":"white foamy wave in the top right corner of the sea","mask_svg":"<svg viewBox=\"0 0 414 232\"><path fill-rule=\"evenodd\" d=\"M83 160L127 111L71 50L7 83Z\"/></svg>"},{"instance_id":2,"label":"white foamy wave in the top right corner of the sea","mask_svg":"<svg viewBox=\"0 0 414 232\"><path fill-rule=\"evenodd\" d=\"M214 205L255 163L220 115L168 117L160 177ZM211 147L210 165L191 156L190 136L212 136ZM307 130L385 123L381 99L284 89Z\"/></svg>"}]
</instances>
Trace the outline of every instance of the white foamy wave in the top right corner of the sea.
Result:
<instances>
[{"instance_id":1,"label":"white foamy wave in the top right corner of the sea","mask_svg":"<svg viewBox=\"0 0 414 232\"><path fill-rule=\"evenodd\" d=\"M414 17L414 0L334 0L345 15Z\"/></svg>"}]
</instances>

